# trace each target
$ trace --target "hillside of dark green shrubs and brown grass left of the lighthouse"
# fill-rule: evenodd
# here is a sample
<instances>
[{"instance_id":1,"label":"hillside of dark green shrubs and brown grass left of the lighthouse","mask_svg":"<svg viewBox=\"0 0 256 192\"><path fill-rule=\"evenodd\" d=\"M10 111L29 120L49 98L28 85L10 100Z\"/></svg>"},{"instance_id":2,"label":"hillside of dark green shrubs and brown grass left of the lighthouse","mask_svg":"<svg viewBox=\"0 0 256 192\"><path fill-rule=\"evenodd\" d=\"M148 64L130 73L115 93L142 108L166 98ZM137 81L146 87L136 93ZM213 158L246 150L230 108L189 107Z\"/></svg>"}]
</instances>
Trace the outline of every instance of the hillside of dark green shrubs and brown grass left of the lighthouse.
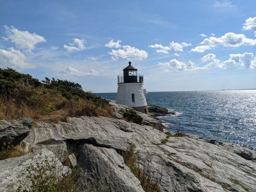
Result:
<instances>
[{"instance_id":1,"label":"hillside of dark green shrubs and brown grass left of the lighthouse","mask_svg":"<svg viewBox=\"0 0 256 192\"><path fill-rule=\"evenodd\" d=\"M40 83L29 74L0 69L0 120L30 117L58 123L67 117L112 113L106 99L84 92L80 84L47 77Z\"/></svg>"}]
</instances>

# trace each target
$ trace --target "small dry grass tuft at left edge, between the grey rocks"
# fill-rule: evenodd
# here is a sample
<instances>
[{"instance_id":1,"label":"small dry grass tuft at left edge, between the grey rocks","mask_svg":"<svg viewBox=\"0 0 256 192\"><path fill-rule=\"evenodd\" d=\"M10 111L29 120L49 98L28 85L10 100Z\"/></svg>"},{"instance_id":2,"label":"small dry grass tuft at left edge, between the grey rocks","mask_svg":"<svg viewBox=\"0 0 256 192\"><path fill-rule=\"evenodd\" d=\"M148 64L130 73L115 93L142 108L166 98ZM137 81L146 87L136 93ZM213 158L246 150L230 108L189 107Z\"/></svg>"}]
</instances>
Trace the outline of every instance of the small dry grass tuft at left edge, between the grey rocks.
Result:
<instances>
[{"instance_id":1,"label":"small dry grass tuft at left edge, between the grey rocks","mask_svg":"<svg viewBox=\"0 0 256 192\"><path fill-rule=\"evenodd\" d=\"M5 145L0 151L0 160L16 156L24 156L26 154L28 154L28 152L24 152L23 148L20 145Z\"/></svg>"}]
</instances>

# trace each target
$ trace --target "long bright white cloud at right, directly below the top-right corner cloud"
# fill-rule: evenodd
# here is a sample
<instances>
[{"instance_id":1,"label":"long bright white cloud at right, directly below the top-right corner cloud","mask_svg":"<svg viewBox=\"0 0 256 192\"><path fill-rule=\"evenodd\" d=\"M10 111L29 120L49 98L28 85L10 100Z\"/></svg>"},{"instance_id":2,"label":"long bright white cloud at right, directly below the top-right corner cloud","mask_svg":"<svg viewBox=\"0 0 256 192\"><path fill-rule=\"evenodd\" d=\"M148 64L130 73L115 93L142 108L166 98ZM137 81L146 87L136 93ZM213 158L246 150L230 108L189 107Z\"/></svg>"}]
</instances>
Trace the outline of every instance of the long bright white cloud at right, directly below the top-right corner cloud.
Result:
<instances>
[{"instance_id":1,"label":"long bright white cloud at right, directly below the top-right corner cloud","mask_svg":"<svg viewBox=\"0 0 256 192\"><path fill-rule=\"evenodd\" d=\"M211 48L218 45L222 45L224 47L239 47L241 45L256 45L256 39L246 38L244 34L229 32L219 38L214 36L205 38L200 44L210 46Z\"/></svg>"}]
</instances>

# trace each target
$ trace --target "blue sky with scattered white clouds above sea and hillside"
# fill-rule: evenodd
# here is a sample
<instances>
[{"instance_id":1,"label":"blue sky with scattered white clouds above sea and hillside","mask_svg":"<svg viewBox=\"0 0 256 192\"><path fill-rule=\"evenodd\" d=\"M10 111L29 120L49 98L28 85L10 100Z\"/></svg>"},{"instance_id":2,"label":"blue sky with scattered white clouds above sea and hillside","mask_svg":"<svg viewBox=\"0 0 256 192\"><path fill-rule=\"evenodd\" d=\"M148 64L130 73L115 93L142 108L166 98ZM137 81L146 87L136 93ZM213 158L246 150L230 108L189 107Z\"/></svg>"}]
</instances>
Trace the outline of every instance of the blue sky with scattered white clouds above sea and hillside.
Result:
<instances>
[{"instance_id":1,"label":"blue sky with scattered white clouds above sea and hillside","mask_svg":"<svg viewBox=\"0 0 256 192\"><path fill-rule=\"evenodd\" d=\"M256 0L0 0L0 68L117 91L256 88Z\"/></svg>"}]
</instances>

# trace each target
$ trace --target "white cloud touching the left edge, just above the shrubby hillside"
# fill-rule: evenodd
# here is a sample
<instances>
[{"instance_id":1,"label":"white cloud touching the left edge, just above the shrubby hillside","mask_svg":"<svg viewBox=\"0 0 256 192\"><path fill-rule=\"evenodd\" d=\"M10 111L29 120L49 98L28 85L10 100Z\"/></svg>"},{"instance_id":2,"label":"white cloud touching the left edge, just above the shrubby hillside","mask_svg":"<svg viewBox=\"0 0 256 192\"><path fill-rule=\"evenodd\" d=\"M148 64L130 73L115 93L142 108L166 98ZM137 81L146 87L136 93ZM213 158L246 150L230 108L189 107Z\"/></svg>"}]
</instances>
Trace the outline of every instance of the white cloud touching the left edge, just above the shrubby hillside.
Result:
<instances>
[{"instance_id":1,"label":"white cloud touching the left edge, just above the shrubby hillside","mask_svg":"<svg viewBox=\"0 0 256 192\"><path fill-rule=\"evenodd\" d=\"M0 49L1 67L28 67L25 59L25 55L20 50L14 48L8 48L8 50Z\"/></svg>"}]
</instances>

